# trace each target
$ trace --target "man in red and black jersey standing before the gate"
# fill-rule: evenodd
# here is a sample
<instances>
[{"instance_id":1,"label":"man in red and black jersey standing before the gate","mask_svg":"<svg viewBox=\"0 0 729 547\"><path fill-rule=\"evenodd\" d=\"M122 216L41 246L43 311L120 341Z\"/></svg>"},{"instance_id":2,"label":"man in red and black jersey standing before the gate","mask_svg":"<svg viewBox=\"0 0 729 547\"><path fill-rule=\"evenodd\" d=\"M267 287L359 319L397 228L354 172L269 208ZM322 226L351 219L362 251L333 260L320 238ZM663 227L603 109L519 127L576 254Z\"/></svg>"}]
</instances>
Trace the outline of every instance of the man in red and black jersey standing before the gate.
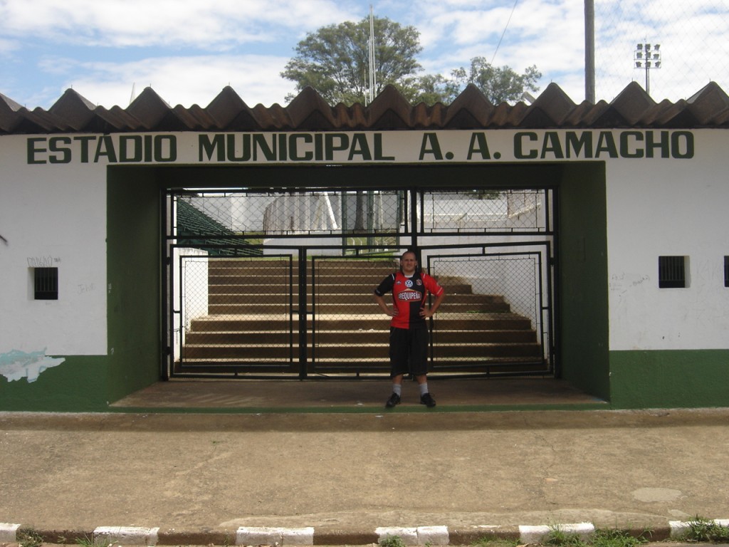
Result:
<instances>
[{"instance_id":1,"label":"man in red and black jersey standing before the gate","mask_svg":"<svg viewBox=\"0 0 729 547\"><path fill-rule=\"evenodd\" d=\"M392 292L392 309L383 295ZM435 300L426 309L428 292ZM420 387L420 402L432 408L435 400L428 391L428 327L426 317L432 317L443 302L445 291L435 279L418 271L415 252L405 251L400 257L400 270L387 276L375 289L375 302L389 317L390 322L390 376L392 395L385 404L392 408L399 404L402 395L402 378L413 374Z\"/></svg>"}]
</instances>

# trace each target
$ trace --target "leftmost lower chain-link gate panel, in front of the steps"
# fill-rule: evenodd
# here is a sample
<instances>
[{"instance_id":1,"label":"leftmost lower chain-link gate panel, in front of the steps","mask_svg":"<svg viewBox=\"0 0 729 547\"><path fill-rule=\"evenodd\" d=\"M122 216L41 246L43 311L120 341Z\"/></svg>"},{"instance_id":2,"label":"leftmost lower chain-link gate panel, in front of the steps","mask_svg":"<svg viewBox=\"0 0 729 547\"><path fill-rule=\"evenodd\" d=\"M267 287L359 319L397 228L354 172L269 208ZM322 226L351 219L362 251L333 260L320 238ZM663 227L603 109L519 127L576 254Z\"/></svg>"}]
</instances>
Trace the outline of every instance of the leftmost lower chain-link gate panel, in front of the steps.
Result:
<instances>
[{"instance_id":1,"label":"leftmost lower chain-link gate panel, in front of the steps","mask_svg":"<svg viewBox=\"0 0 729 547\"><path fill-rule=\"evenodd\" d=\"M289 368L297 355L292 257L181 257L182 368Z\"/></svg>"}]
</instances>

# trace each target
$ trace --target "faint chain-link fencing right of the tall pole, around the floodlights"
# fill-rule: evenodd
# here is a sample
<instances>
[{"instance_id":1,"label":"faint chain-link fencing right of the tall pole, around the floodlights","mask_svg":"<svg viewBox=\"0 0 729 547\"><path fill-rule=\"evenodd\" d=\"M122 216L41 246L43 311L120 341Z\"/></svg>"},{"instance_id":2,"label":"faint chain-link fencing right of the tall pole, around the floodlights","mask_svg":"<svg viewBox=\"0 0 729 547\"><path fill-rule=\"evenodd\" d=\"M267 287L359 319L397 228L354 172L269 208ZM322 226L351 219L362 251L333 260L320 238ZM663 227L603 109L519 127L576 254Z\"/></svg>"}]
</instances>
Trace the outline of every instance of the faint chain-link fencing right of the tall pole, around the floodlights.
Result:
<instances>
[{"instance_id":1,"label":"faint chain-link fencing right of the tall pole, around the floodlights","mask_svg":"<svg viewBox=\"0 0 729 547\"><path fill-rule=\"evenodd\" d=\"M728 15L728 0L596 0L596 98L612 101L632 81L657 102L709 82L729 89Z\"/></svg>"}]
</instances>

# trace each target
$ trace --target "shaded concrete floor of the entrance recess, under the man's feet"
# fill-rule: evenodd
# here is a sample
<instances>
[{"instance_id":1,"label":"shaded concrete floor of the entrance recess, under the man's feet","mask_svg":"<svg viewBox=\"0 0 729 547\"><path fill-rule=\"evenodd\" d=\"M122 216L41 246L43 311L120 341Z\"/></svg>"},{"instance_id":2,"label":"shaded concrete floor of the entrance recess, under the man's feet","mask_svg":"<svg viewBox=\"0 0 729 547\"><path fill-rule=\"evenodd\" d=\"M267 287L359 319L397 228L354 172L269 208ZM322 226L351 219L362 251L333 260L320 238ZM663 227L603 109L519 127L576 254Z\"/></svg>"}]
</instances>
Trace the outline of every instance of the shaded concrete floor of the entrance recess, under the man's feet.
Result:
<instances>
[{"instance_id":1,"label":"shaded concrete floor of the entrance recess, under the man's feet","mask_svg":"<svg viewBox=\"0 0 729 547\"><path fill-rule=\"evenodd\" d=\"M429 378L438 411L515 410L518 408L604 408L568 382L552 378ZM174 379L153 384L117 401L115 409L218 410L224 412L309 411L372 412L383 409L391 392L387 379L305 381ZM405 381L397 411L424 411L418 386Z\"/></svg>"}]
</instances>

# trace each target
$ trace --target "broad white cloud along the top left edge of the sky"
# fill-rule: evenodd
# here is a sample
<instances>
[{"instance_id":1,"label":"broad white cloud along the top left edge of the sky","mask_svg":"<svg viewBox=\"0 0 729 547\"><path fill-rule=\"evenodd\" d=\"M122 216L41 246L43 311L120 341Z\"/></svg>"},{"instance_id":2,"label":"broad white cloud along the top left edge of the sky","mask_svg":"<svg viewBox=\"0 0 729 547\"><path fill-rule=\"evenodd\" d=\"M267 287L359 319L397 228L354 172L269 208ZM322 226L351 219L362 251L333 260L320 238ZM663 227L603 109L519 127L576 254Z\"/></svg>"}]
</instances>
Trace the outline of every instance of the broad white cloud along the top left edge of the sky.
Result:
<instances>
[{"instance_id":1,"label":"broad white cloud along the top left edge of the sky","mask_svg":"<svg viewBox=\"0 0 729 547\"><path fill-rule=\"evenodd\" d=\"M9 0L0 4L0 30L42 35L86 46L155 44L220 49L273 42L350 15L333 0Z\"/></svg>"}]
</instances>

